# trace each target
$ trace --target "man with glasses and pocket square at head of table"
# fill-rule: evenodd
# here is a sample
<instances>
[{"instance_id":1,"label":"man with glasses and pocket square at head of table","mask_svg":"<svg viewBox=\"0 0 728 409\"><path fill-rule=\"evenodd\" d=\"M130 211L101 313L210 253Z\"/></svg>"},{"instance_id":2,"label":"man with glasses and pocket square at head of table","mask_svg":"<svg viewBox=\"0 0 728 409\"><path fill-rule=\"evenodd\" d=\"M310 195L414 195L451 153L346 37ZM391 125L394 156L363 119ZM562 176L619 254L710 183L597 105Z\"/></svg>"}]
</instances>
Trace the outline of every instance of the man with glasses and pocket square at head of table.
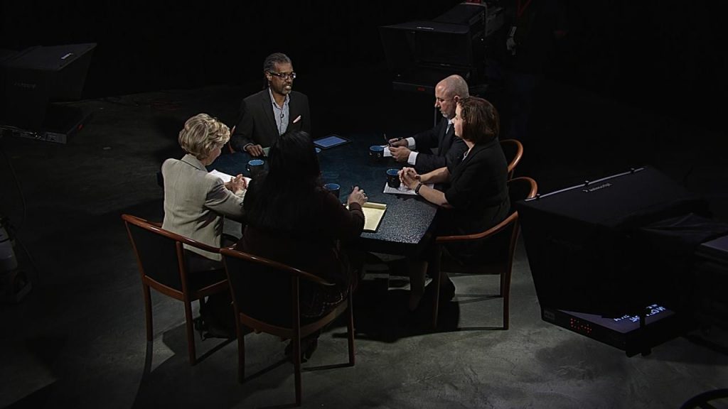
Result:
<instances>
[{"instance_id":1,"label":"man with glasses and pocket square at head of table","mask_svg":"<svg viewBox=\"0 0 728 409\"><path fill-rule=\"evenodd\" d=\"M280 52L266 57L263 74L268 87L242 101L240 121L230 138L235 151L262 156L263 149L288 131L311 133L309 98L293 91L296 72L287 55Z\"/></svg>"}]
</instances>

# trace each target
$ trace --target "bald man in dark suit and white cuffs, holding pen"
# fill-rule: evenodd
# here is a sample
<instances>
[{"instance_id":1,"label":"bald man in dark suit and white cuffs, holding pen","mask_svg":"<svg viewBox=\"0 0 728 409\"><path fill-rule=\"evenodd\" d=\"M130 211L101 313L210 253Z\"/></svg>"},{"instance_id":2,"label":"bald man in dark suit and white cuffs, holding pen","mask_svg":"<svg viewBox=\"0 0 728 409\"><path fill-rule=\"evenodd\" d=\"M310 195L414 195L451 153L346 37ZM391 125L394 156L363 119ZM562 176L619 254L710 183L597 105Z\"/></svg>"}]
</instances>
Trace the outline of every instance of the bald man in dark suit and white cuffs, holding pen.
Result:
<instances>
[{"instance_id":1,"label":"bald man in dark suit and white cuffs, holding pen","mask_svg":"<svg viewBox=\"0 0 728 409\"><path fill-rule=\"evenodd\" d=\"M465 143L455 136L452 119L457 101L469 96L467 82L459 75L451 75L435 86L435 108L440 109L443 119L431 130L420 132L403 140L389 140L384 156L392 155L397 162L407 162L422 174L451 167L462 160L467 150Z\"/></svg>"}]
</instances>

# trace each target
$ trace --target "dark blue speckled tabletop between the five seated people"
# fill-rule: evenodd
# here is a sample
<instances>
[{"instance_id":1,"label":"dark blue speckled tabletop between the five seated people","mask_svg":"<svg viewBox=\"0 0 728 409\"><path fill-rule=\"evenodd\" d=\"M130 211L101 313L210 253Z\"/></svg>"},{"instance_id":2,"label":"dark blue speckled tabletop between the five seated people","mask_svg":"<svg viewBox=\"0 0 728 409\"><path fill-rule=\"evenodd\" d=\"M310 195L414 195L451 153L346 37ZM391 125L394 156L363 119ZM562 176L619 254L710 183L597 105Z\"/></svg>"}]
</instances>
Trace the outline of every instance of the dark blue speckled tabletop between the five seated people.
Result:
<instances>
[{"instance_id":1,"label":"dark blue speckled tabletop between the five seated people","mask_svg":"<svg viewBox=\"0 0 728 409\"><path fill-rule=\"evenodd\" d=\"M339 183L342 202L352 186L359 186L364 189L370 202L387 204L379 228L361 235L361 247L378 253L415 253L435 218L437 206L419 196L384 193L387 169L401 169L403 164L391 158L379 162L369 158L369 146L384 142L381 135L341 136L349 138L351 142L325 149L319 154L323 183ZM250 176L245 170L249 159L250 156L245 153L223 154L207 168L229 175L242 173Z\"/></svg>"}]
</instances>

